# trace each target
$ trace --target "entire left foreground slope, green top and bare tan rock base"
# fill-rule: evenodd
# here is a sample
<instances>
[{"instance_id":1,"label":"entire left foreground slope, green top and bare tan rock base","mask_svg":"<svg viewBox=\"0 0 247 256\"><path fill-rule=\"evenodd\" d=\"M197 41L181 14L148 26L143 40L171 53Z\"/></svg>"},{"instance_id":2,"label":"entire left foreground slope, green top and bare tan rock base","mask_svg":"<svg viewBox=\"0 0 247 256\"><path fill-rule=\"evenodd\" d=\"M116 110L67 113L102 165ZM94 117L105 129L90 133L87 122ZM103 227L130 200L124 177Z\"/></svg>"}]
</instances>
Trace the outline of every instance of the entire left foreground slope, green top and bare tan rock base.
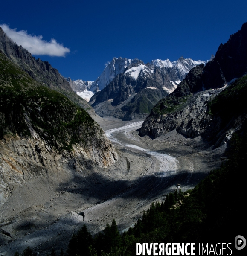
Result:
<instances>
[{"instance_id":1,"label":"entire left foreground slope, green top and bare tan rock base","mask_svg":"<svg viewBox=\"0 0 247 256\"><path fill-rule=\"evenodd\" d=\"M0 52L0 203L42 177L107 167L117 160L83 108L41 85ZM36 181L35 181L36 180Z\"/></svg>"}]
</instances>

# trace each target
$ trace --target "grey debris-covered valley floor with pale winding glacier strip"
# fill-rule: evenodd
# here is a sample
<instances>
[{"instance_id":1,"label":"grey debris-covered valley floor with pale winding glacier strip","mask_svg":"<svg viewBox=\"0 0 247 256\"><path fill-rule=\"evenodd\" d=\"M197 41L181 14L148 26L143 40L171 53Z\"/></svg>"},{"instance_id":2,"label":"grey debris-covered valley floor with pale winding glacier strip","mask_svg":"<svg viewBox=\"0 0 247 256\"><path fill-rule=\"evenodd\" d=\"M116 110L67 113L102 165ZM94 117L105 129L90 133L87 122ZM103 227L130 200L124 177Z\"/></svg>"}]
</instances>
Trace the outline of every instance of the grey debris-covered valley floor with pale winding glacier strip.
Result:
<instances>
[{"instance_id":1,"label":"grey debris-covered valley floor with pale winding glacier strip","mask_svg":"<svg viewBox=\"0 0 247 256\"><path fill-rule=\"evenodd\" d=\"M40 255L67 249L83 224L92 234L116 219L124 232L151 202L177 189L193 188L225 159L225 146L212 150L201 137L189 139L175 130L157 139L139 137L142 120L97 122L112 140L119 160L108 168L40 176L20 184L0 206L0 255L30 246ZM85 219L78 213L84 212Z\"/></svg>"}]
</instances>

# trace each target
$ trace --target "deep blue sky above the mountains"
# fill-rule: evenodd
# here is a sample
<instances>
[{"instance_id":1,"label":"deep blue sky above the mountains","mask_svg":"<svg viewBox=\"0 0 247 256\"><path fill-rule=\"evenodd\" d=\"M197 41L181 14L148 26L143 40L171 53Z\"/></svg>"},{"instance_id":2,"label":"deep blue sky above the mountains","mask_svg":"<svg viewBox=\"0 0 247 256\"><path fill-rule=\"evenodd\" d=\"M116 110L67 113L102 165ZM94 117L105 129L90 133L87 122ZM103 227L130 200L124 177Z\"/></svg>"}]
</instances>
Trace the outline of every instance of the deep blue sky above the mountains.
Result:
<instances>
[{"instance_id":1,"label":"deep blue sky above the mountains","mask_svg":"<svg viewBox=\"0 0 247 256\"><path fill-rule=\"evenodd\" d=\"M10 29L42 35L39 49L54 39L56 49L47 54L65 56L35 58L63 76L90 81L113 57L207 60L246 21L246 0L12 0L1 3L0 15Z\"/></svg>"}]
</instances>

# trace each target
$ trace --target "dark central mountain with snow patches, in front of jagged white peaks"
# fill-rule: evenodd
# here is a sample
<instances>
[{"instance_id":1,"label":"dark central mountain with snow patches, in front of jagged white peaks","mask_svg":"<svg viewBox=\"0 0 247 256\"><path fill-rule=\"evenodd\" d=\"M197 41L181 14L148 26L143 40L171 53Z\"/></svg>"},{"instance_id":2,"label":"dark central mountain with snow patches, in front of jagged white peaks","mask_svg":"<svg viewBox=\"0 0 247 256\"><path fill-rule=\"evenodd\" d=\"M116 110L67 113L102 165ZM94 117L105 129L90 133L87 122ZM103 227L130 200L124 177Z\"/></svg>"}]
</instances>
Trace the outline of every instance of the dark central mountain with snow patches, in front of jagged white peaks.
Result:
<instances>
[{"instance_id":1,"label":"dark central mountain with snow patches, in front of jagged white peaks","mask_svg":"<svg viewBox=\"0 0 247 256\"><path fill-rule=\"evenodd\" d=\"M148 64L136 59L103 90L95 93L90 104L100 116L143 119L160 99L177 88L188 70L204 63L183 57L174 62L154 60Z\"/></svg>"}]
</instances>

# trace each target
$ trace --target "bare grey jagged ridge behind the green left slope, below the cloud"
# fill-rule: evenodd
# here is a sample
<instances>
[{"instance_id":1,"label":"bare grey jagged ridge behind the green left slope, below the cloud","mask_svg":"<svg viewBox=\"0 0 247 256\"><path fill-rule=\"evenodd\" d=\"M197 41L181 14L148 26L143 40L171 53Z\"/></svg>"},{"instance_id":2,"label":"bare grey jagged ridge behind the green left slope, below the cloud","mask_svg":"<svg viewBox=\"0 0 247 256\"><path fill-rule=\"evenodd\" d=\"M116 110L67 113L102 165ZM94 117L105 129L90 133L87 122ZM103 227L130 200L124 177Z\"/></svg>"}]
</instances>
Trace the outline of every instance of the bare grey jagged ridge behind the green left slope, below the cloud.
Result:
<instances>
[{"instance_id":1,"label":"bare grey jagged ridge behind the green left slope, below the cloud","mask_svg":"<svg viewBox=\"0 0 247 256\"><path fill-rule=\"evenodd\" d=\"M57 69L53 68L48 61L32 57L30 52L15 44L2 28L0 28L0 50L35 81L64 94L77 105L86 109L91 116L95 116L93 108L73 92L69 82L61 76Z\"/></svg>"}]
</instances>

